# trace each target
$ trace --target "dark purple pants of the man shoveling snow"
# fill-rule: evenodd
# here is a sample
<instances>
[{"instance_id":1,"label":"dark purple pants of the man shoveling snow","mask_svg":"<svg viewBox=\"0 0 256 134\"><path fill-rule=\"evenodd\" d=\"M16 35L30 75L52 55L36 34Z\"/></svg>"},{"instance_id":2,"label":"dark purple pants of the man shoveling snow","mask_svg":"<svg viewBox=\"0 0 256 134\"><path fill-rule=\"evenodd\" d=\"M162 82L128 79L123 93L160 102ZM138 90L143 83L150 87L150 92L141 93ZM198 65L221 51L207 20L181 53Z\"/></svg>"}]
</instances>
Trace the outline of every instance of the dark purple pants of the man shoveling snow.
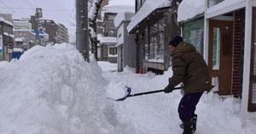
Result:
<instances>
[{"instance_id":1,"label":"dark purple pants of the man shoveling snow","mask_svg":"<svg viewBox=\"0 0 256 134\"><path fill-rule=\"evenodd\" d=\"M179 119L183 122L191 120L195 115L196 104L199 102L203 92L187 93L183 96L178 104Z\"/></svg>"}]
</instances>

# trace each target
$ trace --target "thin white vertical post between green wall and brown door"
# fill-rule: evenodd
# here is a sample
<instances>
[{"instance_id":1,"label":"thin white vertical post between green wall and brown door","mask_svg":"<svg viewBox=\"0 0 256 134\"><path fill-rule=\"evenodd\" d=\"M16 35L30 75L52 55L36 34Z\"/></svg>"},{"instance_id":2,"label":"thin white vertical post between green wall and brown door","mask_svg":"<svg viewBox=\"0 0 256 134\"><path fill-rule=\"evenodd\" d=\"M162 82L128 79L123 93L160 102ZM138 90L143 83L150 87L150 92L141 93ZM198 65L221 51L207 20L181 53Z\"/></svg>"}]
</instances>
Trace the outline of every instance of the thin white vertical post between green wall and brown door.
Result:
<instances>
[{"instance_id":1,"label":"thin white vertical post between green wall and brown door","mask_svg":"<svg viewBox=\"0 0 256 134\"><path fill-rule=\"evenodd\" d=\"M209 20L207 19L208 0L205 0L205 13L204 13L204 59L208 64L208 51L209 51Z\"/></svg>"}]
</instances>

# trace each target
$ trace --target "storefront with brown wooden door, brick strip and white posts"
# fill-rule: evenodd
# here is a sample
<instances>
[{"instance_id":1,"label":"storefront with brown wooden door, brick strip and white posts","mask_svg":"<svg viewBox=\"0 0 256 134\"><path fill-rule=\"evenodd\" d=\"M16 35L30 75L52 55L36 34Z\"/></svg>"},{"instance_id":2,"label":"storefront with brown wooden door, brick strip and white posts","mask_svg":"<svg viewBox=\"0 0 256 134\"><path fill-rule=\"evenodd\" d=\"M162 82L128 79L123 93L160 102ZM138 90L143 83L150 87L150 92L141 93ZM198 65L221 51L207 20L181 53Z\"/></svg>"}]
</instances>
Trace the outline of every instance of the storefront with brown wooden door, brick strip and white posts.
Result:
<instances>
[{"instance_id":1,"label":"storefront with brown wooden door, brick strip and white posts","mask_svg":"<svg viewBox=\"0 0 256 134\"><path fill-rule=\"evenodd\" d=\"M246 116L247 110L256 110L256 1L204 2L203 16L183 21L183 36L189 40L193 38L189 32L201 31L203 27L203 56L212 85L217 87L215 92L241 98L242 116ZM197 33L201 38L202 34Z\"/></svg>"}]
</instances>

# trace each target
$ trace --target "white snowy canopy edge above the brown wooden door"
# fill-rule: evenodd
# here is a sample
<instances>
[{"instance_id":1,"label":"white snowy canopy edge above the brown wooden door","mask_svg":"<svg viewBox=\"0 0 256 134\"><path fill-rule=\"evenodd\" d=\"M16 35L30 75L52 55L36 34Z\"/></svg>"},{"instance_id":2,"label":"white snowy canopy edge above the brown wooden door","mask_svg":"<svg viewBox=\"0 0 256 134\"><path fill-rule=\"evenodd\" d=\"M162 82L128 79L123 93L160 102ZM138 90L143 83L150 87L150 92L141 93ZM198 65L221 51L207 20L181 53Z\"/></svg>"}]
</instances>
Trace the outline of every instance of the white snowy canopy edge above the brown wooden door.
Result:
<instances>
[{"instance_id":1,"label":"white snowy canopy edge above the brown wooden door","mask_svg":"<svg viewBox=\"0 0 256 134\"><path fill-rule=\"evenodd\" d=\"M246 6L246 0L224 0L207 9L207 19L232 12Z\"/></svg>"}]
</instances>

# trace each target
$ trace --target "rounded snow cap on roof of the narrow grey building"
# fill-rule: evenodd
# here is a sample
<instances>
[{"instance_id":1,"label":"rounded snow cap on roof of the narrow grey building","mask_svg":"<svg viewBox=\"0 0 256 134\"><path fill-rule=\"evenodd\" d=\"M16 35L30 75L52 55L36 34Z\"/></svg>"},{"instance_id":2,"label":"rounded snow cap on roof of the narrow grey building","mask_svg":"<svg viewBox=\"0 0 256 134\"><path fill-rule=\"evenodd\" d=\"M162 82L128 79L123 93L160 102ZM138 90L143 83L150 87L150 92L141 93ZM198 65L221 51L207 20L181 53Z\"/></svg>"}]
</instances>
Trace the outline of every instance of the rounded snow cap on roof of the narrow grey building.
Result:
<instances>
[{"instance_id":1,"label":"rounded snow cap on roof of the narrow grey building","mask_svg":"<svg viewBox=\"0 0 256 134\"><path fill-rule=\"evenodd\" d=\"M131 13L131 12L125 12L125 13L122 12L122 13L117 14L113 20L114 26L118 27L122 23L122 21L131 20L133 15L134 15L134 13Z\"/></svg>"}]
</instances>

